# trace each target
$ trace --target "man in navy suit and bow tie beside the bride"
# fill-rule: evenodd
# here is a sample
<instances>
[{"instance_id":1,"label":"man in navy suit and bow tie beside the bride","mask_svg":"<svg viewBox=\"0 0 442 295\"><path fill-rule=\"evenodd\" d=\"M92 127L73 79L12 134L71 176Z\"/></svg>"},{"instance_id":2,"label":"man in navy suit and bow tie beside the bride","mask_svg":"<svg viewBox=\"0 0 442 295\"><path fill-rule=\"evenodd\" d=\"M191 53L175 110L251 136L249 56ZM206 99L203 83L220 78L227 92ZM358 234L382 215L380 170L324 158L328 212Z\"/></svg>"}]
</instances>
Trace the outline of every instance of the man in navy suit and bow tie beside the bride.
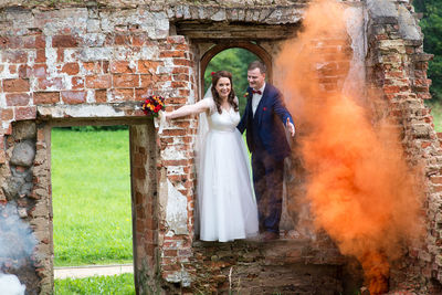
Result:
<instances>
[{"instance_id":1,"label":"man in navy suit and bow tie beside the bride","mask_svg":"<svg viewBox=\"0 0 442 295\"><path fill-rule=\"evenodd\" d=\"M260 232L264 241L271 241L280 236L284 158L291 152L284 125L292 137L295 126L281 92L265 83L265 65L259 61L249 65L248 104L236 128L241 133L248 130Z\"/></svg>"}]
</instances>

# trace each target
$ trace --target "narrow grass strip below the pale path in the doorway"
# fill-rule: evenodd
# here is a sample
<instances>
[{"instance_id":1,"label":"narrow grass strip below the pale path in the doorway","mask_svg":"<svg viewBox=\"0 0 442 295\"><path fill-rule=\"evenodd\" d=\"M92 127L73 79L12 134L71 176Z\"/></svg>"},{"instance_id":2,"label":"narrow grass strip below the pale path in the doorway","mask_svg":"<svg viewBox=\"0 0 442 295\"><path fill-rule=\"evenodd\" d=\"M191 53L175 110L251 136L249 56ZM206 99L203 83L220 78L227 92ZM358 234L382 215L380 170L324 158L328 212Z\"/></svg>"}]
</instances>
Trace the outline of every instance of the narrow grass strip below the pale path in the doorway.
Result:
<instances>
[{"instance_id":1,"label":"narrow grass strip below the pale path in the doorway","mask_svg":"<svg viewBox=\"0 0 442 295\"><path fill-rule=\"evenodd\" d=\"M133 274L55 280L55 295L135 294Z\"/></svg>"}]
</instances>

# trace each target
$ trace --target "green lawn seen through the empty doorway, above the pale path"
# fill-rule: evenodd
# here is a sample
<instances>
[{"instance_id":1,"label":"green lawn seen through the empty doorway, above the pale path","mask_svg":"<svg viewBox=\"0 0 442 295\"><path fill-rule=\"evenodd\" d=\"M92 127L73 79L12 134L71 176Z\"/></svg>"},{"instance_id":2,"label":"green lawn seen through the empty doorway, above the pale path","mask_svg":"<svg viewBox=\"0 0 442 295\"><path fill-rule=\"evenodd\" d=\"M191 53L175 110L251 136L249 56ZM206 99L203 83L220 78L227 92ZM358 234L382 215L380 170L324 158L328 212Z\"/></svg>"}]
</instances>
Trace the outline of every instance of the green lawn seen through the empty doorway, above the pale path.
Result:
<instances>
[{"instance_id":1,"label":"green lawn seen through the empty doorway, above the pale path","mask_svg":"<svg viewBox=\"0 0 442 295\"><path fill-rule=\"evenodd\" d=\"M55 266L130 263L128 130L52 130Z\"/></svg>"}]
</instances>

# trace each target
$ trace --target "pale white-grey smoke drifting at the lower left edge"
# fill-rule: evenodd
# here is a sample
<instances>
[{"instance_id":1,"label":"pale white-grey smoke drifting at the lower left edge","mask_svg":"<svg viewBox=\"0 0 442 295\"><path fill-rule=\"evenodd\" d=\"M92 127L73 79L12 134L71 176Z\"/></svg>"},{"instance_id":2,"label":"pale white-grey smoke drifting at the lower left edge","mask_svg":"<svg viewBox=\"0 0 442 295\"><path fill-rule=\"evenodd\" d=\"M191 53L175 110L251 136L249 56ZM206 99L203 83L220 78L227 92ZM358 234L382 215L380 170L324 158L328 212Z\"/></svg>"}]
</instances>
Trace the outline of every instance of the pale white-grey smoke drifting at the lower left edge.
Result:
<instances>
[{"instance_id":1,"label":"pale white-grey smoke drifting at the lower left edge","mask_svg":"<svg viewBox=\"0 0 442 295\"><path fill-rule=\"evenodd\" d=\"M17 204L0 204L0 270L22 266L30 260L35 244L33 232L19 217ZM15 275L0 272L0 291L2 295L21 295L25 285Z\"/></svg>"}]
</instances>

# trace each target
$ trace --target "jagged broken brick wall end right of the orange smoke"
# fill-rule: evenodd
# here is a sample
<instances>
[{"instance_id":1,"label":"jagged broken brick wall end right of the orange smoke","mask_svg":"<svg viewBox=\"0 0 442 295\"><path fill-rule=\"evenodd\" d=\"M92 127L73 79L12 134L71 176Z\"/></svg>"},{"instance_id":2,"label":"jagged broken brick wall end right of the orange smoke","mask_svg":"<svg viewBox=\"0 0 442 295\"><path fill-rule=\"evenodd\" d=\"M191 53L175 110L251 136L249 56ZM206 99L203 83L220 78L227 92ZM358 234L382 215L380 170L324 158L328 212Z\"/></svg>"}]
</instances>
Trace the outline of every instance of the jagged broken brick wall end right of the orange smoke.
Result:
<instances>
[{"instance_id":1,"label":"jagged broken brick wall end right of the orange smoke","mask_svg":"<svg viewBox=\"0 0 442 295\"><path fill-rule=\"evenodd\" d=\"M431 81L427 78L431 56L423 53L422 39L403 38L400 25L403 23L392 17L370 20L368 76L373 87L381 89L380 94L389 107L388 115L396 118L407 160L410 166L422 168L425 185L422 188L425 193L422 218L427 221L427 236L410 246L409 261L403 261L391 271L390 287L433 294L431 289L435 285L432 280L442 282L442 260L439 260L442 254L441 230L438 228L442 198L442 149L433 118L423 102L431 98Z\"/></svg>"}]
</instances>

